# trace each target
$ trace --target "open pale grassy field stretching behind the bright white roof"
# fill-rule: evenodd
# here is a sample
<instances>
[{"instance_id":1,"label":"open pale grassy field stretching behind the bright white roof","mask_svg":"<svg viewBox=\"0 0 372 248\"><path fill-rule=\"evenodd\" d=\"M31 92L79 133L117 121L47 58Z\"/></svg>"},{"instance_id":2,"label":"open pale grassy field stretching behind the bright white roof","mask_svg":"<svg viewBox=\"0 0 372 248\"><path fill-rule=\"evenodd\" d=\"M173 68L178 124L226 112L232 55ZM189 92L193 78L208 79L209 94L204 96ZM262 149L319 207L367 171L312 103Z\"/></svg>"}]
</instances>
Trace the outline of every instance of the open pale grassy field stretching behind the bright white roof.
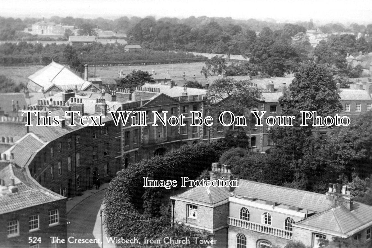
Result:
<instances>
[{"instance_id":1,"label":"open pale grassy field stretching behind the bright white roof","mask_svg":"<svg viewBox=\"0 0 372 248\"><path fill-rule=\"evenodd\" d=\"M195 63L174 63L165 65L138 65L138 66L97 66L96 76L102 78L103 84L115 84L114 78L117 77L118 71L124 69L124 73L130 73L133 70L142 71L153 71L156 74L169 72L171 78L176 82L177 85L182 86L185 82L182 78L183 72L186 74L186 81L193 80L193 75L196 76L196 81L202 83L203 85L207 82L204 75L200 74L203 67L203 62ZM3 74L9 78L12 78L16 83L23 82L27 83L28 76L34 74L41 68L31 67L31 68L1 68L0 74ZM94 75L94 67L89 67L89 76Z\"/></svg>"}]
</instances>

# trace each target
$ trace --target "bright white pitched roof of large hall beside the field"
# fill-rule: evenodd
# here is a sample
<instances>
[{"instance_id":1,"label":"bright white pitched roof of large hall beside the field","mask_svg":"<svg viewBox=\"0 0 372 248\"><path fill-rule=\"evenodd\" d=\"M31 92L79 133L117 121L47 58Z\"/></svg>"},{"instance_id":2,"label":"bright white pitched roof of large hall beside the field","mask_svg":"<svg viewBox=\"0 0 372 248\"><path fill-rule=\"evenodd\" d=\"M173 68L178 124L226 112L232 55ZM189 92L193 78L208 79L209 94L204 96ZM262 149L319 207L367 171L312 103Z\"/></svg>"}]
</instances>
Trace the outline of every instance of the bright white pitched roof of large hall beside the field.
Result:
<instances>
[{"instance_id":1,"label":"bright white pitched roof of large hall beside the field","mask_svg":"<svg viewBox=\"0 0 372 248\"><path fill-rule=\"evenodd\" d=\"M28 78L40 87L44 87L45 91L54 85L62 91L65 89L74 89L75 85L77 85L78 89L83 90L83 87L86 88L89 86L89 84L91 84L90 82L84 81L84 79L74 74L66 66L60 65L56 62L50 63Z\"/></svg>"}]
</instances>

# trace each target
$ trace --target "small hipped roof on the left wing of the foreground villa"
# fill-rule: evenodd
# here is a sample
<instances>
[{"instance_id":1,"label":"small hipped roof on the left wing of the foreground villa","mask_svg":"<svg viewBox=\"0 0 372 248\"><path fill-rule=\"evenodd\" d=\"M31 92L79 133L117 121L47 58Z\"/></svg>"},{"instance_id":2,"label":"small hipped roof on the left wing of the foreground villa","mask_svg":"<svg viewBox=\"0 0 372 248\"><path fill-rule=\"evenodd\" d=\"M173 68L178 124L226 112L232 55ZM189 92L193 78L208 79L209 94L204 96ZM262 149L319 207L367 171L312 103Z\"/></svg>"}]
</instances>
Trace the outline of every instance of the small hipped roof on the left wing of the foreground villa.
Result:
<instances>
[{"instance_id":1,"label":"small hipped roof on the left wing of the foreground villa","mask_svg":"<svg viewBox=\"0 0 372 248\"><path fill-rule=\"evenodd\" d=\"M215 204L232 196L225 187L194 187L186 192L177 195L177 198L183 198L191 201L202 202L207 204Z\"/></svg>"}]
</instances>

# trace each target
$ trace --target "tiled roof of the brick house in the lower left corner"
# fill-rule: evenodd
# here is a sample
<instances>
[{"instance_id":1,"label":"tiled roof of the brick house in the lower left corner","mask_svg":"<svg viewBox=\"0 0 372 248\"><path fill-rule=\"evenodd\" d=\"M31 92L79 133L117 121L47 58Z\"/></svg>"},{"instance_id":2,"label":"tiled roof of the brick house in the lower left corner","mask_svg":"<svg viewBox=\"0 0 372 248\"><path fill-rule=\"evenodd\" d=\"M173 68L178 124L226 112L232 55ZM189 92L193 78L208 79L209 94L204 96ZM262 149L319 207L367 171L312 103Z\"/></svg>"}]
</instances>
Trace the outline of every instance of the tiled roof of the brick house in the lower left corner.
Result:
<instances>
[{"instance_id":1,"label":"tiled roof of the brick house in the lower left corner","mask_svg":"<svg viewBox=\"0 0 372 248\"><path fill-rule=\"evenodd\" d=\"M15 164L9 164L0 170L0 178L5 180L5 186L10 186L10 179L14 179L15 186L18 188L16 193L11 193L8 189L1 191L0 215L65 199L65 197L51 192L36 183L35 180L27 176L25 169Z\"/></svg>"}]
</instances>

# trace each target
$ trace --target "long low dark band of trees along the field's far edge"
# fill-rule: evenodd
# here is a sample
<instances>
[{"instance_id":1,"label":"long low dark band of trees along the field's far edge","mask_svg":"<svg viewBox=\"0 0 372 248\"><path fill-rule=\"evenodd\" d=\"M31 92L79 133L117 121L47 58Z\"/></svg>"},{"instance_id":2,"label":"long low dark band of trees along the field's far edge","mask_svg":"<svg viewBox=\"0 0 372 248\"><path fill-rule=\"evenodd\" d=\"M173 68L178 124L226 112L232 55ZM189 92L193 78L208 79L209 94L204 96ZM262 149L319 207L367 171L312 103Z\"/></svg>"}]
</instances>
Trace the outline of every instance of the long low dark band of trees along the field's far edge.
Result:
<instances>
[{"instance_id":1,"label":"long low dark band of trees along the field's far edge","mask_svg":"<svg viewBox=\"0 0 372 248\"><path fill-rule=\"evenodd\" d=\"M71 49L68 45L46 45L30 44L20 42L17 44L5 43L0 45L0 64L1 65L23 65L23 64L42 64L46 65L50 62L70 61L68 53ZM81 63L92 63L95 60L98 63L105 62L129 62L129 61L161 61L161 60L182 60L182 59L198 59L199 57L184 52L166 52L142 49L137 51L125 52L124 46L102 45L93 43L92 45L74 45L73 51Z\"/></svg>"}]
</instances>

